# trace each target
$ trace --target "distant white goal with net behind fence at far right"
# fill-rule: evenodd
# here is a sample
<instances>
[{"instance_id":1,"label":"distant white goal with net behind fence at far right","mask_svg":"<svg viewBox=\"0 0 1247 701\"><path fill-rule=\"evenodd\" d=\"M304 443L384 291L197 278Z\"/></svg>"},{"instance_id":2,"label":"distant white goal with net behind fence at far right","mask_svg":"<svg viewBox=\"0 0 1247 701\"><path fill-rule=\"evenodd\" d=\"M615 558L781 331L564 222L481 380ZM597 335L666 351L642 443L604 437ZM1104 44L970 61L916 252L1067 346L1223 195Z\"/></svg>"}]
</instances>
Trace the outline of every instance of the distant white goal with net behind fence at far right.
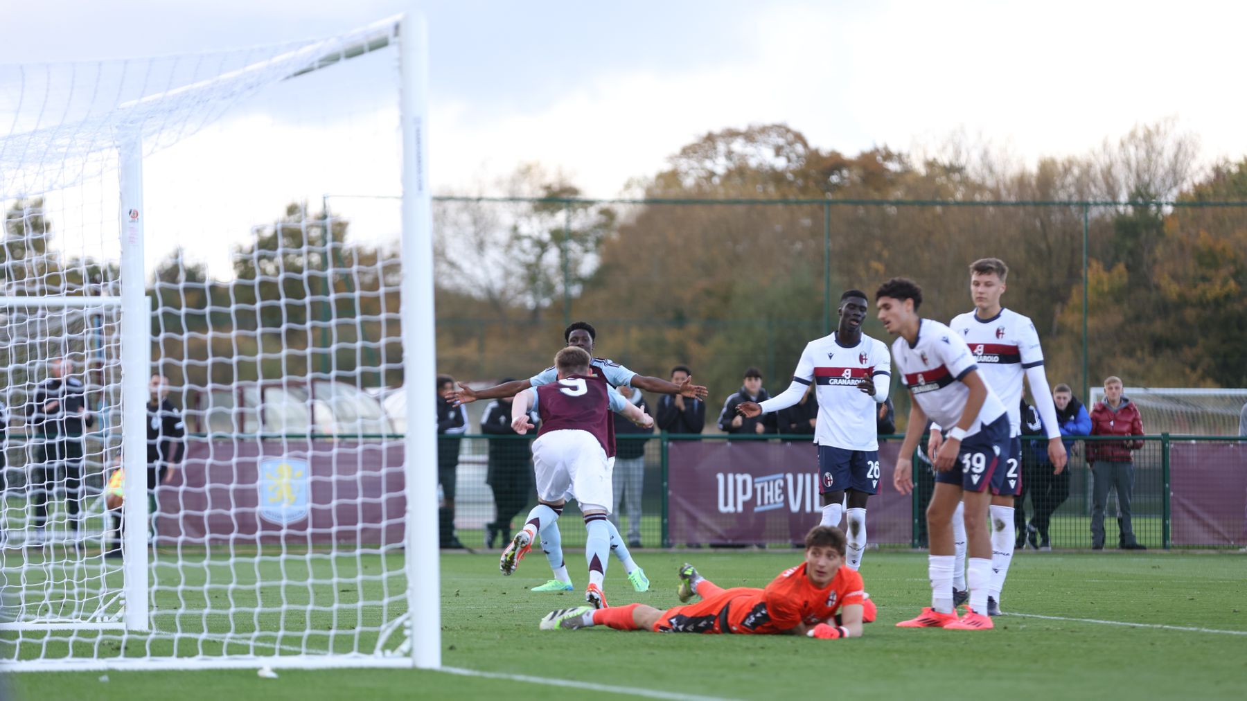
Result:
<instances>
[{"instance_id":1,"label":"distant white goal with net behind fence at far right","mask_svg":"<svg viewBox=\"0 0 1247 701\"><path fill-rule=\"evenodd\" d=\"M1122 395L1139 405L1143 432L1172 435L1238 435L1247 389L1127 387ZM1104 400L1104 388L1091 388L1091 403Z\"/></svg>"}]
</instances>

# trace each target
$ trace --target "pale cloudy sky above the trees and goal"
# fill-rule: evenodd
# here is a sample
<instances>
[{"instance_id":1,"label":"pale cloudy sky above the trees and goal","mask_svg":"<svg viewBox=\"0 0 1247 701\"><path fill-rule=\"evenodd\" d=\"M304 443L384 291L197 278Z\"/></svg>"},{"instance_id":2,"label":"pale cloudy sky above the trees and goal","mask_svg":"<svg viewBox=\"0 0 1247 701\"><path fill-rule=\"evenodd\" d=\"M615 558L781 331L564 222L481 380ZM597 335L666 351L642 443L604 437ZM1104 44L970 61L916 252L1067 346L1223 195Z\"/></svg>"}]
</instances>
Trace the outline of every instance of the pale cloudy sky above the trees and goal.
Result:
<instances>
[{"instance_id":1,"label":"pale cloudy sky above the trees and goal","mask_svg":"<svg viewBox=\"0 0 1247 701\"><path fill-rule=\"evenodd\" d=\"M847 153L969 133L1034 161L1176 118L1200 137L1206 162L1247 155L1240 117L1247 94L1233 82L1247 5L1228 2L47 0L4 4L4 24L21 31L4 32L0 64L293 41L409 7L429 24L429 167L438 193L488 191L519 163L541 162L589 196L617 196L706 132L764 122L786 122L816 146ZM293 125L308 131L293 128L302 138L291 140L304 148L335 141L335 125L352 120L335 105L357 90L344 81L318 97L327 111ZM278 123L288 116L282 109L244 105L228 118ZM0 128L2 121L0 114ZM205 138L196 152L216 150ZM327 170L359 172L352 137L337 141L347 143L324 146L323 161L337 158ZM292 183L308 172L294 156L272 160L291 163ZM178 180L153 167L166 187ZM272 178L259 178L247 191L254 212L266 196L274 211L272 201L301 192L375 195L393 183L392 167L379 166L375 178L329 177L269 195L261 180ZM237 201L239 221L256 221L252 205ZM369 205L340 206L368 222Z\"/></svg>"}]
</instances>

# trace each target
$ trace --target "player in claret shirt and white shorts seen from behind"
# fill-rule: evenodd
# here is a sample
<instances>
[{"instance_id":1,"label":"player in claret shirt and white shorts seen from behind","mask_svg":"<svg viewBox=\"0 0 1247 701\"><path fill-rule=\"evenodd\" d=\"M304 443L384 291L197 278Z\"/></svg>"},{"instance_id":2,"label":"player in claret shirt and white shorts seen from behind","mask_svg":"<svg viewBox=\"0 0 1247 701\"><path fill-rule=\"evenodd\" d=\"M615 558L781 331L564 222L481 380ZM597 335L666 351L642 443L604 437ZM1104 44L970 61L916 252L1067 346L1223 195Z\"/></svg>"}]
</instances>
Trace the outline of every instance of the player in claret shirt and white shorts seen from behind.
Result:
<instances>
[{"instance_id":1,"label":"player in claret shirt and white shorts seen from behind","mask_svg":"<svg viewBox=\"0 0 1247 701\"><path fill-rule=\"evenodd\" d=\"M529 520L503 550L499 568L510 575L529 551L552 508L562 508L565 496L580 503L589 540L589 589L585 600L597 609L606 606L602 580L611 550L610 515L614 494L611 471L606 465L606 425L610 420L606 379L590 369L590 355L581 348L567 347L555 355L557 382L521 392L511 403L511 428L525 434L534 428L529 410L541 417L541 430L532 442L537 499ZM635 408L635 407L633 407ZM640 410L640 409L637 409ZM557 518L557 515L554 515Z\"/></svg>"}]
</instances>

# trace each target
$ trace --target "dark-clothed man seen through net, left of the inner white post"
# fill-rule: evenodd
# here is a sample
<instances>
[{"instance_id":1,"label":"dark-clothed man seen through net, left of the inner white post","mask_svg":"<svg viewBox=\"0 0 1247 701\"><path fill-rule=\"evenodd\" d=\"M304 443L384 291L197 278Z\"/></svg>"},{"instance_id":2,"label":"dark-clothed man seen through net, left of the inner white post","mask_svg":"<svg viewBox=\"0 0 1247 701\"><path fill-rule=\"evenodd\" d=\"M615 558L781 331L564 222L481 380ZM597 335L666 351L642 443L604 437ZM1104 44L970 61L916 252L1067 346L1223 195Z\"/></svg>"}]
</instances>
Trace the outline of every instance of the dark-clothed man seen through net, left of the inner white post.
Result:
<instances>
[{"instance_id":1,"label":"dark-clothed man seen through net, left of the inner white post","mask_svg":"<svg viewBox=\"0 0 1247 701\"><path fill-rule=\"evenodd\" d=\"M34 433L31 442L30 491L35 503L34 545L45 541L47 498L55 490L57 470L65 469L65 501L71 538L79 543L82 513L82 429L95 425L86 407L86 387L71 375L65 358L47 364L52 375L39 383L26 404L26 418Z\"/></svg>"}]
</instances>

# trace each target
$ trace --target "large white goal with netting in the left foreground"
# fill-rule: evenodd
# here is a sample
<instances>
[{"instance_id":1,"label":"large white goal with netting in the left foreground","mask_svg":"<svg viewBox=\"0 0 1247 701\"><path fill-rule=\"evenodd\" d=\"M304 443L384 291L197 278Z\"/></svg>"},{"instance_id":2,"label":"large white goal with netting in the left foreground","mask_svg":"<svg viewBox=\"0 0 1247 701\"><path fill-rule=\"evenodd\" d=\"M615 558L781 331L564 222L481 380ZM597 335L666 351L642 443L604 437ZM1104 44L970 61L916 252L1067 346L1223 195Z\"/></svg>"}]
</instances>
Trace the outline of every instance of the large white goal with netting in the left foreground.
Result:
<instances>
[{"instance_id":1,"label":"large white goal with netting in the left foreground","mask_svg":"<svg viewBox=\"0 0 1247 701\"><path fill-rule=\"evenodd\" d=\"M425 72L0 66L6 669L440 665Z\"/></svg>"}]
</instances>

